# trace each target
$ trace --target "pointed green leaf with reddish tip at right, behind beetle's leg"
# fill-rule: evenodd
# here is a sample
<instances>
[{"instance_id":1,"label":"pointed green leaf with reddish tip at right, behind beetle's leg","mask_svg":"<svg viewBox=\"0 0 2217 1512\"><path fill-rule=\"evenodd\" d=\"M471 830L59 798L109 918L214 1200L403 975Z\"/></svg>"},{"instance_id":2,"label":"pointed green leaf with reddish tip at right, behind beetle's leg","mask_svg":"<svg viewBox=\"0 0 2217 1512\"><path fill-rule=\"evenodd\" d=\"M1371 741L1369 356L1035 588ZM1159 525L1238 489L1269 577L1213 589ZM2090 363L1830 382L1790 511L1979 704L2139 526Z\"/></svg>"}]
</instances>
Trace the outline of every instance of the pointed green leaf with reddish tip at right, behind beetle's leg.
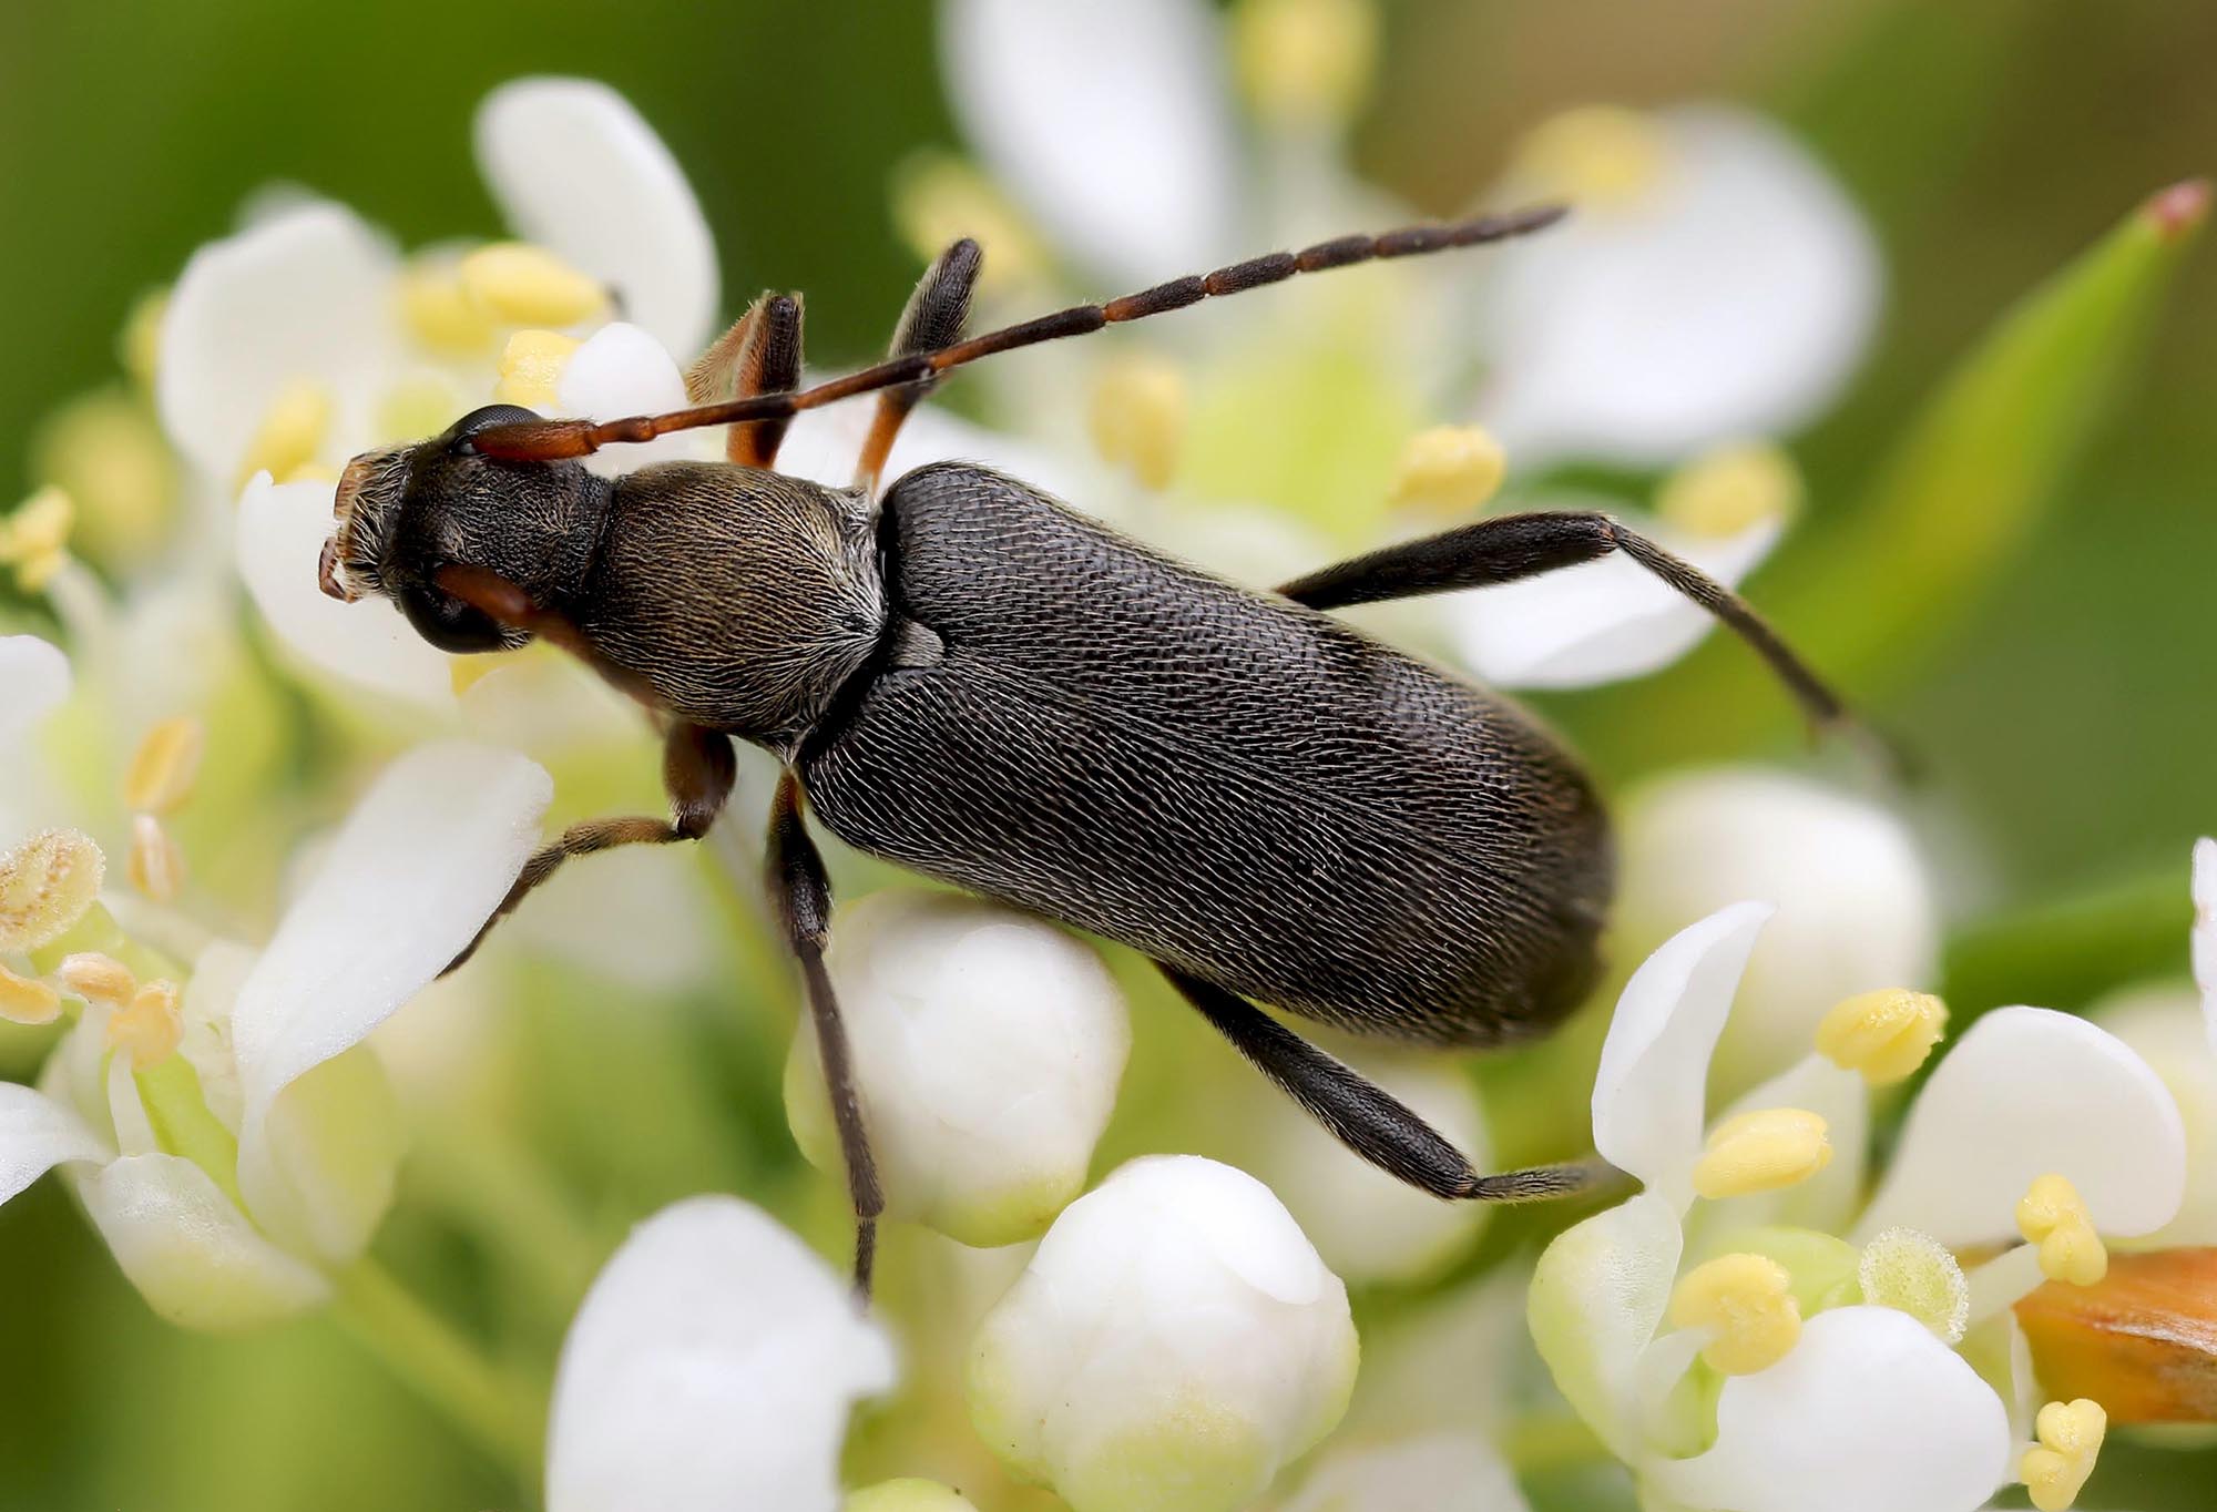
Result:
<instances>
[{"instance_id":1,"label":"pointed green leaf with reddish tip at right, behind beetle's leg","mask_svg":"<svg viewBox=\"0 0 2217 1512\"><path fill-rule=\"evenodd\" d=\"M1851 703L1900 685L2017 559L2124 386L2206 182L2139 204L2020 299L1909 428L1853 512L1814 528L1754 588L1758 607ZM1791 705L1747 647L1700 656L1616 701L1596 745L1641 765L1743 752ZM1698 718L1689 718L1698 712Z\"/></svg>"}]
</instances>

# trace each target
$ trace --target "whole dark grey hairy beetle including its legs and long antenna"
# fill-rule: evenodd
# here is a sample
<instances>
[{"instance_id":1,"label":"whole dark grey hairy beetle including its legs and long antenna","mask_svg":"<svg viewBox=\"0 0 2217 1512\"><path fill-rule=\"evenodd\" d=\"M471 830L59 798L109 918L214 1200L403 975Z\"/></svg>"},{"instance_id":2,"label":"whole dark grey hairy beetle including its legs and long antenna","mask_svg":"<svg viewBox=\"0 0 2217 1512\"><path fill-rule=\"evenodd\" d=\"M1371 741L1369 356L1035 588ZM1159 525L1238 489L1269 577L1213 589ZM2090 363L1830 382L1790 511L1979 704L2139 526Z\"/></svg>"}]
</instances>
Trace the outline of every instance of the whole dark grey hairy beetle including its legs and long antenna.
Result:
<instances>
[{"instance_id":1,"label":"whole dark grey hairy beetle including its legs and long antenna","mask_svg":"<svg viewBox=\"0 0 2217 1512\"><path fill-rule=\"evenodd\" d=\"M1840 701L1754 610L1596 512L1481 519L1270 594L980 466L880 488L902 419L949 368L1561 215L1341 237L969 339L980 251L964 239L924 273L887 361L814 388L800 388L800 302L765 295L687 375L696 408L594 423L490 406L357 457L324 590L386 594L448 652L552 641L665 732L672 814L570 827L486 929L572 856L701 838L732 794L734 736L785 763L767 878L807 982L865 1295L882 1199L803 796L856 849L1146 953L1264 1075L1403 1182L1481 1202L1579 1191L1607 1168L1479 1175L1255 1007L1490 1046L1552 1029L1598 973L1612 849L1579 763L1514 705L1328 610L1625 552L1736 630L1811 721L1838 723ZM774 470L794 415L865 392L878 410L851 488ZM729 461L619 479L576 461L696 426L727 428Z\"/></svg>"}]
</instances>

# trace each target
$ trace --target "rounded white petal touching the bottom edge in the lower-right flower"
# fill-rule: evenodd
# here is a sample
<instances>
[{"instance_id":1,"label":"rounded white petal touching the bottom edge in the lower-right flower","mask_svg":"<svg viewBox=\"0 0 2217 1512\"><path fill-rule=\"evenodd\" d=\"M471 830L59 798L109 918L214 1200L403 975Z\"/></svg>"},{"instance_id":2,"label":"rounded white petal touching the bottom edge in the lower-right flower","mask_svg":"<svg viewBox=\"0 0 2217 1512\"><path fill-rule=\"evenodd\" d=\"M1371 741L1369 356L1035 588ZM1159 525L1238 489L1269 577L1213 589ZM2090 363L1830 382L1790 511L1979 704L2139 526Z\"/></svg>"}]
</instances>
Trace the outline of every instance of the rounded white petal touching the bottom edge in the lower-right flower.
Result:
<instances>
[{"instance_id":1,"label":"rounded white petal touching the bottom edge in the lower-right flower","mask_svg":"<svg viewBox=\"0 0 2217 1512\"><path fill-rule=\"evenodd\" d=\"M1665 1461L1678 1503L1720 1512L1973 1512L2009 1474L2002 1399L1893 1308L1833 1308L1794 1350L1725 1381L1716 1445Z\"/></svg>"}]
</instances>

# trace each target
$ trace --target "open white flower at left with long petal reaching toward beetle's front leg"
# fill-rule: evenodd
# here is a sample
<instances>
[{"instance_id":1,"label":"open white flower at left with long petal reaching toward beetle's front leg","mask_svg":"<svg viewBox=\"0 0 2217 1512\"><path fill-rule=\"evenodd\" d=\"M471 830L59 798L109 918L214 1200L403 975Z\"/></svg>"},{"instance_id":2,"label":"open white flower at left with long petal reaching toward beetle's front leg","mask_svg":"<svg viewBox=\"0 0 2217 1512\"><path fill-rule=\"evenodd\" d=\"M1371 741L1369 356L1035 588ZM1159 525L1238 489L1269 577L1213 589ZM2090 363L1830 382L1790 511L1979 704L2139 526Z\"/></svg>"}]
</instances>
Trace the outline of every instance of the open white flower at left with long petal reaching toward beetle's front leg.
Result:
<instances>
[{"instance_id":1,"label":"open white flower at left with long petal reaching toward beetle's front leg","mask_svg":"<svg viewBox=\"0 0 2217 1512\"><path fill-rule=\"evenodd\" d=\"M0 1084L0 1193L60 1164L171 1321L239 1328L324 1301L399 1157L361 1040L501 900L548 796L521 756L423 747L357 805L268 947L206 949L182 1002L106 958L53 967L84 1011L38 1091Z\"/></svg>"}]
</instances>

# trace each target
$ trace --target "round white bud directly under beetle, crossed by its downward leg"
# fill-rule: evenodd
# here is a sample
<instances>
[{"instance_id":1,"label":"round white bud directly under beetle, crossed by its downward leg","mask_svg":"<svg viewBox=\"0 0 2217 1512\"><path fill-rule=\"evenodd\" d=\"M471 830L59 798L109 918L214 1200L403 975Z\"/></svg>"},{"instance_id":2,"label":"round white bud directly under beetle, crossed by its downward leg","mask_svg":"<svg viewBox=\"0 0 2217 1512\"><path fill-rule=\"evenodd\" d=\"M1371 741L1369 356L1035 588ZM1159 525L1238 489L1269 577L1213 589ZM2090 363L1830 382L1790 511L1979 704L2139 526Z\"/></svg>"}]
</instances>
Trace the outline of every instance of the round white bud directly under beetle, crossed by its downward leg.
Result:
<instances>
[{"instance_id":1,"label":"round white bud directly under beetle, crossed by its downward leg","mask_svg":"<svg viewBox=\"0 0 2217 1512\"><path fill-rule=\"evenodd\" d=\"M887 889L834 916L825 964L887 1215L978 1246L1044 1233L1084 1191L1131 1053L1100 958L1015 909ZM845 1173L807 1020L785 1106L803 1153Z\"/></svg>"}]
</instances>

